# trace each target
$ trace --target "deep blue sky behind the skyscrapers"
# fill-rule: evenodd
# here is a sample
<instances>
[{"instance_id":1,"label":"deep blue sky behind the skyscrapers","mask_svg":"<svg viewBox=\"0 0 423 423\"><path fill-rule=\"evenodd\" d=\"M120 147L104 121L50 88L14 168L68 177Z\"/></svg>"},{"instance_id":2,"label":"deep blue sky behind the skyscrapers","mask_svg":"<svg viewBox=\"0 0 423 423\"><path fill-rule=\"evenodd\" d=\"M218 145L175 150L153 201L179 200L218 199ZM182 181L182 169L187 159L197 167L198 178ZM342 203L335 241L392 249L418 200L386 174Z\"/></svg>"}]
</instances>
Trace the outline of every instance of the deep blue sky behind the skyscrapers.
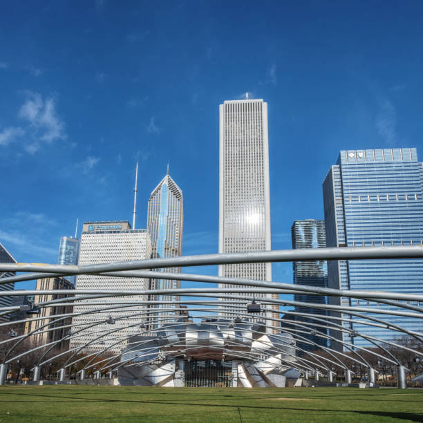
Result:
<instances>
[{"instance_id":1,"label":"deep blue sky behind the skyscrapers","mask_svg":"<svg viewBox=\"0 0 423 423\"><path fill-rule=\"evenodd\" d=\"M184 254L217 252L218 104L248 92L269 109L272 248L290 248L293 220L323 218L340 149L423 158L422 16L417 0L3 3L0 242L56 263L77 218L131 220L139 158L137 226L169 162Z\"/></svg>"}]
</instances>

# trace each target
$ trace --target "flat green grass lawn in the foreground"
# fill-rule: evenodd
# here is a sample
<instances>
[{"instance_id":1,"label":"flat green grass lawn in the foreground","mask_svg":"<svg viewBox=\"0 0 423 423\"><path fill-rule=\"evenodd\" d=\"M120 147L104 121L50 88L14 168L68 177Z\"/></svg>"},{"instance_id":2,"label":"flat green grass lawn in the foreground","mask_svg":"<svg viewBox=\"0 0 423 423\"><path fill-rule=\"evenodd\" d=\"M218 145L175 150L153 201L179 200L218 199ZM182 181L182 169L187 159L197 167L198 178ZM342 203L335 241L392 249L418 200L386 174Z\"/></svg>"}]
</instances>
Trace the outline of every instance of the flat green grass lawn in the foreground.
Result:
<instances>
[{"instance_id":1,"label":"flat green grass lawn in the foreground","mask_svg":"<svg viewBox=\"0 0 423 423\"><path fill-rule=\"evenodd\" d=\"M423 390L0 386L0 422L422 422Z\"/></svg>"}]
</instances>

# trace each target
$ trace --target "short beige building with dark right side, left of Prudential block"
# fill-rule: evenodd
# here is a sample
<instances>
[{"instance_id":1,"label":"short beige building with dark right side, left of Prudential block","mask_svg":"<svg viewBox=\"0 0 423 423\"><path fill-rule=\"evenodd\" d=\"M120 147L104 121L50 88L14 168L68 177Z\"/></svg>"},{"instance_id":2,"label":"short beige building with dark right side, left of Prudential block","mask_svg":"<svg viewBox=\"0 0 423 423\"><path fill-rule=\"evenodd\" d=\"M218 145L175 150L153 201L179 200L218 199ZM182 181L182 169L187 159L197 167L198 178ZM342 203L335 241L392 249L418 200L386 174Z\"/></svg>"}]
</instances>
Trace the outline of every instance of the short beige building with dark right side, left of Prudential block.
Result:
<instances>
[{"instance_id":1,"label":"short beige building with dark right side, left of Prudential block","mask_svg":"<svg viewBox=\"0 0 423 423\"><path fill-rule=\"evenodd\" d=\"M68 281L65 278L53 277L53 278L44 278L37 279L35 285L35 290L74 290L75 286L71 281ZM73 297L73 292L69 294L42 294L35 295L34 302L41 303L44 301L53 301L57 299L62 299L66 297ZM39 314L30 315L30 317L44 317L42 320L33 320L27 321L25 326L25 334L33 332L39 329L39 333L35 332L34 335L30 337L30 342L32 346L45 345L50 342L57 341L57 348L68 348L69 341L62 340L66 334L71 330L70 327L66 328L64 326L70 326L72 323L72 317L67 317L66 319L57 321L57 314L71 314L73 306L55 306L55 307L43 307L41 308ZM41 328L50 323L50 326Z\"/></svg>"}]
</instances>

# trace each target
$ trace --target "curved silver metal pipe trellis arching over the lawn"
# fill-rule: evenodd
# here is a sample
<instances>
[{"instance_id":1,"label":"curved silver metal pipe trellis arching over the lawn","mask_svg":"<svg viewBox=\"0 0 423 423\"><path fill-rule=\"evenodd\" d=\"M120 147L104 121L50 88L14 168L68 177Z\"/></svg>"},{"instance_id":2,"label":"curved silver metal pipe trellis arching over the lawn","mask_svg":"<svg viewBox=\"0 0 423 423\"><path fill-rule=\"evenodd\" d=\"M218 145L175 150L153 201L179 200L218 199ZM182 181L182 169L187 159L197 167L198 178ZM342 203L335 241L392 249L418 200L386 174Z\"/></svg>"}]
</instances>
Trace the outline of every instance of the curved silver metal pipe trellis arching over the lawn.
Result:
<instances>
[{"instance_id":1,"label":"curved silver metal pipe trellis arching over the lawn","mask_svg":"<svg viewBox=\"0 0 423 423\"><path fill-rule=\"evenodd\" d=\"M373 357L383 359L388 363L397 366L397 379L398 386L400 388L406 388L406 368L401 364L398 357L388 349L388 346L393 348L402 348L415 355L423 356L421 350L410 348L410 346L402 346L397 342L393 342L388 339L380 339L378 337L370 336L364 333L359 333L357 330L352 330L348 323L351 323L351 319L354 317L354 324L372 326L375 328L384 328L393 331L393 334L408 335L413 337L416 341L423 341L423 333L416 332L415 330L408 330L402 326L387 321L390 317L406 317L414 319L423 319L423 308L418 303L423 302L423 295L403 294L395 292L381 292L381 291L364 291L364 290L335 290L332 288L318 288L308 285L292 285L288 283L277 283L269 281L254 281L250 279L236 279L236 278L224 278L220 276L205 276L199 274L177 274L171 272L153 272L149 269L164 269L166 267L183 267L183 266L196 266L196 265L216 265L216 264L235 264L235 263L266 263L272 261L313 261L313 260L353 260L353 259L410 259L410 258L423 258L423 246L395 246L395 247L341 247L341 248L321 248L321 249L299 249L299 250L276 250L268 252L250 252L250 253L231 253L231 254L206 254L199 256L181 256L174 258L164 259L147 259L141 261L129 261L123 263L104 263L96 265L84 265L84 266L69 266L69 265L34 265L33 263L0 263L0 272L35 272L24 275L10 276L3 278L0 284L10 283L11 281L23 281L34 279L34 277L50 277L50 276L66 276L66 275L79 275L79 274L101 274L102 276L111 277L130 277L130 278L149 278L149 279L175 279L181 281L194 281L194 282L205 282L205 283L224 283L229 285L231 288L181 288L181 289L168 289L168 290L75 290L71 294L74 297L67 297L61 299L53 299L51 301L44 301L35 304L37 308L50 308L57 306L84 306L84 311L71 312L56 315L54 318L46 321L45 317L31 317L30 319L23 319L22 321L41 321L41 326L32 330L26 335L16 336L13 335L10 339L3 339L0 344L8 344L13 342L11 348L6 352L3 364L0 364L0 384L3 384L6 379L7 364L19 359L20 357L26 356L37 350L44 350L41 354L41 358L37 360L37 364L33 368L34 376L33 380L39 380L40 366L45 364L51 359L57 357L67 356L65 364L59 370L59 381L64 381L66 368L70 368L73 364L91 357L88 363L84 365L84 369L81 370L80 375L83 379L85 376L86 369L93 368L101 364L100 369L97 368L95 371L95 377L100 378L101 372L108 370L107 375L111 377L112 372L121 368L122 366L142 366L146 361L140 362L141 357L148 358L151 355L151 346L147 341L128 341L127 335L122 335L122 331L140 326L138 323L126 323L128 319L144 319L144 323L149 325L146 330L138 330L133 333L135 335L153 335L160 327L165 324L169 330L172 327L180 328L185 327L186 330L189 325L194 323L191 322L175 322L176 319L180 319L178 313L191 312L194 314L194 319L203 318L210 319L216 316L216 314L224 314L225 316L232 316L232 318L239 319L239 324L253 325L249 321L250 314L246 311L246 303L248 301L254 301L257 299L261 303L261 314L254 317L255 320L260 319L265 321L267 330L278 330L279 332L286 332L287 335L275 334L272 335L274 339L277 339L278 346L273 346L272 342L260 341L263 347L270 347L275 352L285 354L285 358L281 359L284 366L291 366L297 370L301 370L305 373L306 379L309 373L314 371L315 380L319 381L321 372L319 369L328 375L328 382L333 380L333 372L328 367L327 363L331 366L340 367L345 371L346 383L351 383L351 375L353 371L348 368L345 364L345 360L354 361L360 366L368 368L368 381L370 384L375 383L375 369L369 364L366 359L361 355L363 353L369 353ZM69 290L39 290L39 291L1 291L0 296L19 296L19 295L69 295ZM270 298L269 296L261 297L263 294L313 294L319 296L328 297L348 297L350 299L361 299L377 303L378 305L384 305L383 308L375 308L368 306L353 306L352 303L349 306L336 306L333 304L321 304L321 303L306 303L301 301L291 301L288 299L277 299ZM146 301L115 301L118 297L133 297L142 295ZM184 296L183 301L156 301L156 296L162 295L173 295L173 296ZM107 299L113 297L113 305L107 306ZM201 299L198 299L200 297ZM204 299L206 298L206 300ZM208 300L217 299L217 301ZM103 302L97 302L97 301ZM413 301L413 303L409 303ZM169 304L169 307L164 307L165 304ZM191 305L189 308L180 308L178 304ZM157 307L156 307L157 306ZM203 306L203 307L192 307L192 306ZM277 306L278 310L274 310ZM294 306L296 310L284 310L285 314L294 316L294 319L283 319L282 326L279 326L280 319L272 317L272 313L281 312L280 306ZM386 307L388 306L388 307ZM136 308L133 310L133 308ZM129 310L126 310L128 308ZM321 310L321 312L328 312L330 314L311 314L301 312L301 308ZM0 315L7 315L10 312L19 310L19 307L5 307L0 308ZM107 323L104 319L104 313L111 312L117 314L113 316L113 323L119 322L121 326L113 328L104 328L104 323ZM208 313L208 314L207 314ZM212 314L210 314L212 313ZM264 315L263 315L264 313ZM374 315L373 315L374 314ZM86 315L91 319L89 323L66 323L66 319L73 317L79 317ZM383 319L381 318L383 317ZM109 320L109 319L107 319ZM272 323L276 321L277 326L273 326ZM175 322L175 323L172 323ZM17 322L6 322L0 323L1 326L13 325ZM57 325L62 326L57 326ZM222 323L219 323L220 325ZM235 327L236 327L235 323ZM251 333L259 336L261 332L253 329L251 326ZM234 324L232 324L232 328ZM71 329L70 333L66 332L66 329ZM157 329L158 328L158 329ZM53 330L62 330L66 335L55 341L49 342L43 346L30 346L26 351L12 357L12 353L16 350L17 346L24 345L23 342L34 337L35 335L41 335ZM178 329L179 330L179 329ZM349 334L351 341L344 341L344 339L337 339L330 335L329 331L335 330L340 333ZM91 338L89 341L83 341L86 333L90 333ZM207 329L196 329L198 333L209 332L214 333L214 330ZM216 332L215 335L217 335ZM289 337L288 337L289 335ZM324 339L327 346L320 346L317 342L310 339L310 335L319 339ZM393 335L394 336L394 335ZM291 338L292 337L292 338ZM362 337L366 339L370 344L380 348L378 350L369 350L356 345L353 341L353 337ZM75 339L81 339L81 345L61 351L59 354L55 354L54 357L49 357L53 349L62 343L62 341L70 341ZM102 339L113 339L113 342L108 342L104 348L100 348L100 351L91 353L83 358L77 357L79 353L82 353L85 348L97 345ZM291 345L291 340L297 341L297 345ZM335 350L331 346L328 346L328 341L337 342L343 351ZM182 345L177 341L169 341L169 339L160 341L162 344L162 357L173 357L174 351L172 348L180 348L181 354L189 355L194 347L189 345ZM298 343L301 342L310 348L320 348L319 350L306 350L300 348ZM382 345L382 344L384 345ZM145 344L145 345L144 345ZM115 359L118 359L121 353L113 353L112 357L102 358L101 355L107 353L113 348L120 348L120 346L126 345L126 352L133 351L138 354L138 360L134 360L134 357L125 359L115 363ZM209 346L211 350L220 351L225 355L225 352L231 350L231 355L239 357L240 359L248 359L257 361L260 359L262 353L259 350L251 351L238 351L234 352L233 348L240 347L241 344L234 339L227 341L225 346ZM285 352L285 346L289 346L292 350L297 351L296 354L288 354ZM99 349L98 347L96 347ZM169 349L170 348L170 349ZM168 350L167 350L168 349ZM194 348L195 349L195 348ZM306 354L301 356L298 353ZM324 354L323 354L324 353ZM98 361L100 358L100 361ZM97 361L96 361L97 360ZM148 360L147 360L148 361ZM333 368L333 367L332 367Z\"/></svg>"}]
</instances>

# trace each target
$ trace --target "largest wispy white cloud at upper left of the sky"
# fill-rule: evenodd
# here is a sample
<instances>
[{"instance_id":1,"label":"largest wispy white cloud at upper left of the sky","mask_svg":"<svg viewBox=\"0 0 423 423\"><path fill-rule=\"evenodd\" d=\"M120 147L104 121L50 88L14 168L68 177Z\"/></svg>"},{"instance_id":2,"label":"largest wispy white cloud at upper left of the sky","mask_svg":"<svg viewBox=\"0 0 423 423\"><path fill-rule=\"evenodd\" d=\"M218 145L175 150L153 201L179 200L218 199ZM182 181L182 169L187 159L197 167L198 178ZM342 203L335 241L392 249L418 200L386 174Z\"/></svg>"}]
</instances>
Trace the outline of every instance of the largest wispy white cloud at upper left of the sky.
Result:
<instances>
[{"instance_id":1,"label":"largest wispy white cloud at upper left of the sky","mask_svg":"<svg viewBox=\"0 0 423 423\"><path fill-rule=\"evenodd\" d=\"M38 140L53 142L66 139L64 122L57 115L53 97L44 100L39 93L28 93L18 116L35 129Z\"/></svg>"}]
</instances>

